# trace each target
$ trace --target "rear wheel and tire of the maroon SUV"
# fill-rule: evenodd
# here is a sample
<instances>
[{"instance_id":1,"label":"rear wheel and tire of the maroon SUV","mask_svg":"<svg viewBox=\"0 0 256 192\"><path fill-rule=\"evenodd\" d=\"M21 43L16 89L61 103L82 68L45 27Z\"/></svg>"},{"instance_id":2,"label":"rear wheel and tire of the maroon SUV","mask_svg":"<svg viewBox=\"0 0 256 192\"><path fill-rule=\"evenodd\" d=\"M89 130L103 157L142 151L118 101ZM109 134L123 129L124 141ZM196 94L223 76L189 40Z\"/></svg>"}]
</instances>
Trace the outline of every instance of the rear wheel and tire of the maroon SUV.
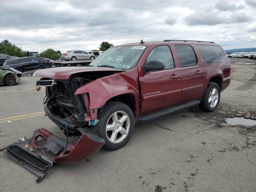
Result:
<instances>
[{"instance_id":1,"label":"rear wheel and tire of the maroon SUV","mask_svg":"<svg viewBox=\"0 0 256 192\"><path fill-rule=\"evenodd\" d=\"M211 96L213 93L214 95ZM210 98L212 98L212 100L210 100ZM220 87L216 83L209 82L207 89L204 93L203 99L200 102L199 106L204 111L212 112L218 107L219 102L220 102Z\"/></svg>"}]
</instances>

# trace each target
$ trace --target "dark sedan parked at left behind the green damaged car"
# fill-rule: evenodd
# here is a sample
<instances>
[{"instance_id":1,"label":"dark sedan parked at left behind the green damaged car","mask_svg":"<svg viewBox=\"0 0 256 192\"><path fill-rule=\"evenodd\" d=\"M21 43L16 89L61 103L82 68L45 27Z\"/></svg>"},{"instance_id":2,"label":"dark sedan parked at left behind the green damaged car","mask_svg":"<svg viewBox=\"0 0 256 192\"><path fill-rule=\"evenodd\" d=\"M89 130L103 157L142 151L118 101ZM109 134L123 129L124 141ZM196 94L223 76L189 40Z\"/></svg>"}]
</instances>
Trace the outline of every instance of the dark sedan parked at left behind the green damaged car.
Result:
<instances>
[{"instance_id":1,"label":"dark sedan parked at left behind the green damaged car","mask_svg":"<svg viewBox=\"0 0 256 192\"><path fill-rule=\"evenodd\" d=\"M16 59L6 60L4 65L10 66L16 70L21 72L42 69L42 68L50 68L51 62L50 60L45 60L37 57L21 57Z\"/></svg>"}]
</instances>

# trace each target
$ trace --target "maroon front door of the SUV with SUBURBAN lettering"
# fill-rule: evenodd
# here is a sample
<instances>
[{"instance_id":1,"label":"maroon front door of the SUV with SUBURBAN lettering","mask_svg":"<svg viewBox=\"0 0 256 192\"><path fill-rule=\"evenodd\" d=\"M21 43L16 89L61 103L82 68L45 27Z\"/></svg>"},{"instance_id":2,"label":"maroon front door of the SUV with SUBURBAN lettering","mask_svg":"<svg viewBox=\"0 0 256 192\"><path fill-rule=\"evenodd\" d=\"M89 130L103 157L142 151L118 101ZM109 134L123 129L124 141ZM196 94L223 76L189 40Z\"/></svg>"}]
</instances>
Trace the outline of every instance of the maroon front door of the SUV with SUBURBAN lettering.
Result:
<instances>
[{"instance_id":1,"label":"maroon front door of the SUV with SUBURBAN lettering","mask_svg":"<svg viewBox=\"0 0 256 192\"><path fill-rule=\"evenodd\" d=\"M143 69L139 72L142 93L140 115L181 103L180 73L179 68L175 68L170 47L168 45L155 47L146 62L152 60L161 60L165 67L163 70L149 74L145 74Z\"/></svg>"}]
</instances>

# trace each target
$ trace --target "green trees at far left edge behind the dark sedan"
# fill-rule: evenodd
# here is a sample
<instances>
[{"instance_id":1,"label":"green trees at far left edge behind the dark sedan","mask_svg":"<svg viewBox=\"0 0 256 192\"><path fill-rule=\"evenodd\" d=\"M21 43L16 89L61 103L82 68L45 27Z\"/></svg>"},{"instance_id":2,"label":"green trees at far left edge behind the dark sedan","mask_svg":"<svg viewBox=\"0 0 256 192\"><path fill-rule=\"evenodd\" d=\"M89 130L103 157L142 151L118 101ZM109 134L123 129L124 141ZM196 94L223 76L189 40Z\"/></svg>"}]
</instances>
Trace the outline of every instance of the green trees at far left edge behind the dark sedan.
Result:
<instances>
[{"instance_id":1,"label":"green trees at far left edge behind the dark sedan","mask_svg":"<svg viewBox=\"0 0 256 192\"><path fill-rule=\"evenodd\" d=\"M8 40L3 40L0 43L0 53L16 57L26 57L26 52L22 48L12 44Z\"/></svg>"}]
</instances>

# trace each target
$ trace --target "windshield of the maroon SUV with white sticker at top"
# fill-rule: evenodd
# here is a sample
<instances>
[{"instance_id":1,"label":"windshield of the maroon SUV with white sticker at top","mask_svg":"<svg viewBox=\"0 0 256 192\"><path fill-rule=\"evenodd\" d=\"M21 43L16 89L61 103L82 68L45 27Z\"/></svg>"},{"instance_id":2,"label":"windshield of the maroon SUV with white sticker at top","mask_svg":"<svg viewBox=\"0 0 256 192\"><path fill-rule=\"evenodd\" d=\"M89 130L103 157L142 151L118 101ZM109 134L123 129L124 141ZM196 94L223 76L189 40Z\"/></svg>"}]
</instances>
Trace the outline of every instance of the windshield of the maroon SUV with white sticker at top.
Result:
<instances>
[{"instance_id":1,"label":"windshield of the maroon SUV with white sticker at top","mask_svg":"<svg viewBox=\"0 0 256 192\"><path fill-rule=\"evenodd\" d=\"M113 47L100 54L90 66L130 70L136 66L146 46Z\"/></svg>"}]
</instances>

